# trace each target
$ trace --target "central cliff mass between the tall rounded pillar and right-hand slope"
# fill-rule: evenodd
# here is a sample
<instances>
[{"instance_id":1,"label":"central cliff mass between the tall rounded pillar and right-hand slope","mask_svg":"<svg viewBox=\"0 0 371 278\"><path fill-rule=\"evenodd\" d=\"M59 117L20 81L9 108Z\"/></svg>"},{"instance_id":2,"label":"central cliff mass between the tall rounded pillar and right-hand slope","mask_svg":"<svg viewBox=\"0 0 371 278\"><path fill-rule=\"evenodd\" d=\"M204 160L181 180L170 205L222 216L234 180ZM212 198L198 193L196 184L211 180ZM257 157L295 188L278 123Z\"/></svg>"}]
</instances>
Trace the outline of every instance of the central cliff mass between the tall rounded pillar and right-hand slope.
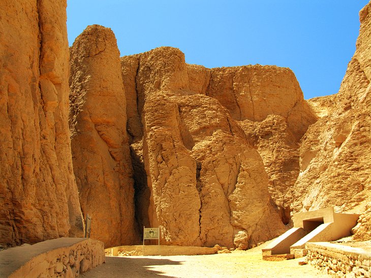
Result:
<instances>
[{"instance_id":1,"label":"central cliff mass between the tall rounded pillar and right-hand slope","mask_svg":"<svg viewBox=\"0 0 371 278\"><path fill-rule=\"evenodd\" d=\"M122 57L121 73L140 224L169 244L241 248L284 230L317 120L288 68L209 69L164 47Z\"/></svg>"}]
</instances>

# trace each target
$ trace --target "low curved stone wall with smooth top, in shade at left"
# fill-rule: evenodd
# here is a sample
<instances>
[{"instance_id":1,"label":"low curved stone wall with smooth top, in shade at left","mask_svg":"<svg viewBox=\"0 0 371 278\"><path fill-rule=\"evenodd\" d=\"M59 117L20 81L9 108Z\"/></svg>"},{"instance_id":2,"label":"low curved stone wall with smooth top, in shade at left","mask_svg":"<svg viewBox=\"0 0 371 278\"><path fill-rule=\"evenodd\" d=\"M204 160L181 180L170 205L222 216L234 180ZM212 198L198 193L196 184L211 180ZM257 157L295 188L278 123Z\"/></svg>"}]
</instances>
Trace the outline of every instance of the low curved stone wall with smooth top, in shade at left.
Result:
<instances>
[{"instance_id":1,"label":"low curved stone wall with smooth top, in shade at left","mask_svg":"<svg viewBox=\"0 0 371 278\"><path fill-rule=\"evenodd\" d=\"M78 277L105 261L103 242L61 237L0 252L0 277Z\"/></svg>"}]
</instances>

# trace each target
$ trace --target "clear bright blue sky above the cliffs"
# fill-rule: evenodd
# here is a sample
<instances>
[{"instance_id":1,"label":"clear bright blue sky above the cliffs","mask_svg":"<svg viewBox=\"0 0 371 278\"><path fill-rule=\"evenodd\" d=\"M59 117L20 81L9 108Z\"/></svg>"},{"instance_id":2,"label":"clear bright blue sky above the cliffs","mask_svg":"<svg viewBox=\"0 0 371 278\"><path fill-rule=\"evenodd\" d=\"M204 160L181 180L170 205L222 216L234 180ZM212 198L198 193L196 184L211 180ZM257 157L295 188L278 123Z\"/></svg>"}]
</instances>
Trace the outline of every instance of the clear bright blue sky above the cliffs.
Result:
<instances>
[{"instance_id":1,"label":"clear bright blue sky above the cliffs","mask_svg":"<svg viewBox=\"0 0 371 278\"><path fill-rule=\"evenodd\" d=\"M206 67L290 67L304 98L336 93L368 0L68 0L70 45L87 25L110 27L121 56L160 46Z\"/></svg>"}]
</instances>

